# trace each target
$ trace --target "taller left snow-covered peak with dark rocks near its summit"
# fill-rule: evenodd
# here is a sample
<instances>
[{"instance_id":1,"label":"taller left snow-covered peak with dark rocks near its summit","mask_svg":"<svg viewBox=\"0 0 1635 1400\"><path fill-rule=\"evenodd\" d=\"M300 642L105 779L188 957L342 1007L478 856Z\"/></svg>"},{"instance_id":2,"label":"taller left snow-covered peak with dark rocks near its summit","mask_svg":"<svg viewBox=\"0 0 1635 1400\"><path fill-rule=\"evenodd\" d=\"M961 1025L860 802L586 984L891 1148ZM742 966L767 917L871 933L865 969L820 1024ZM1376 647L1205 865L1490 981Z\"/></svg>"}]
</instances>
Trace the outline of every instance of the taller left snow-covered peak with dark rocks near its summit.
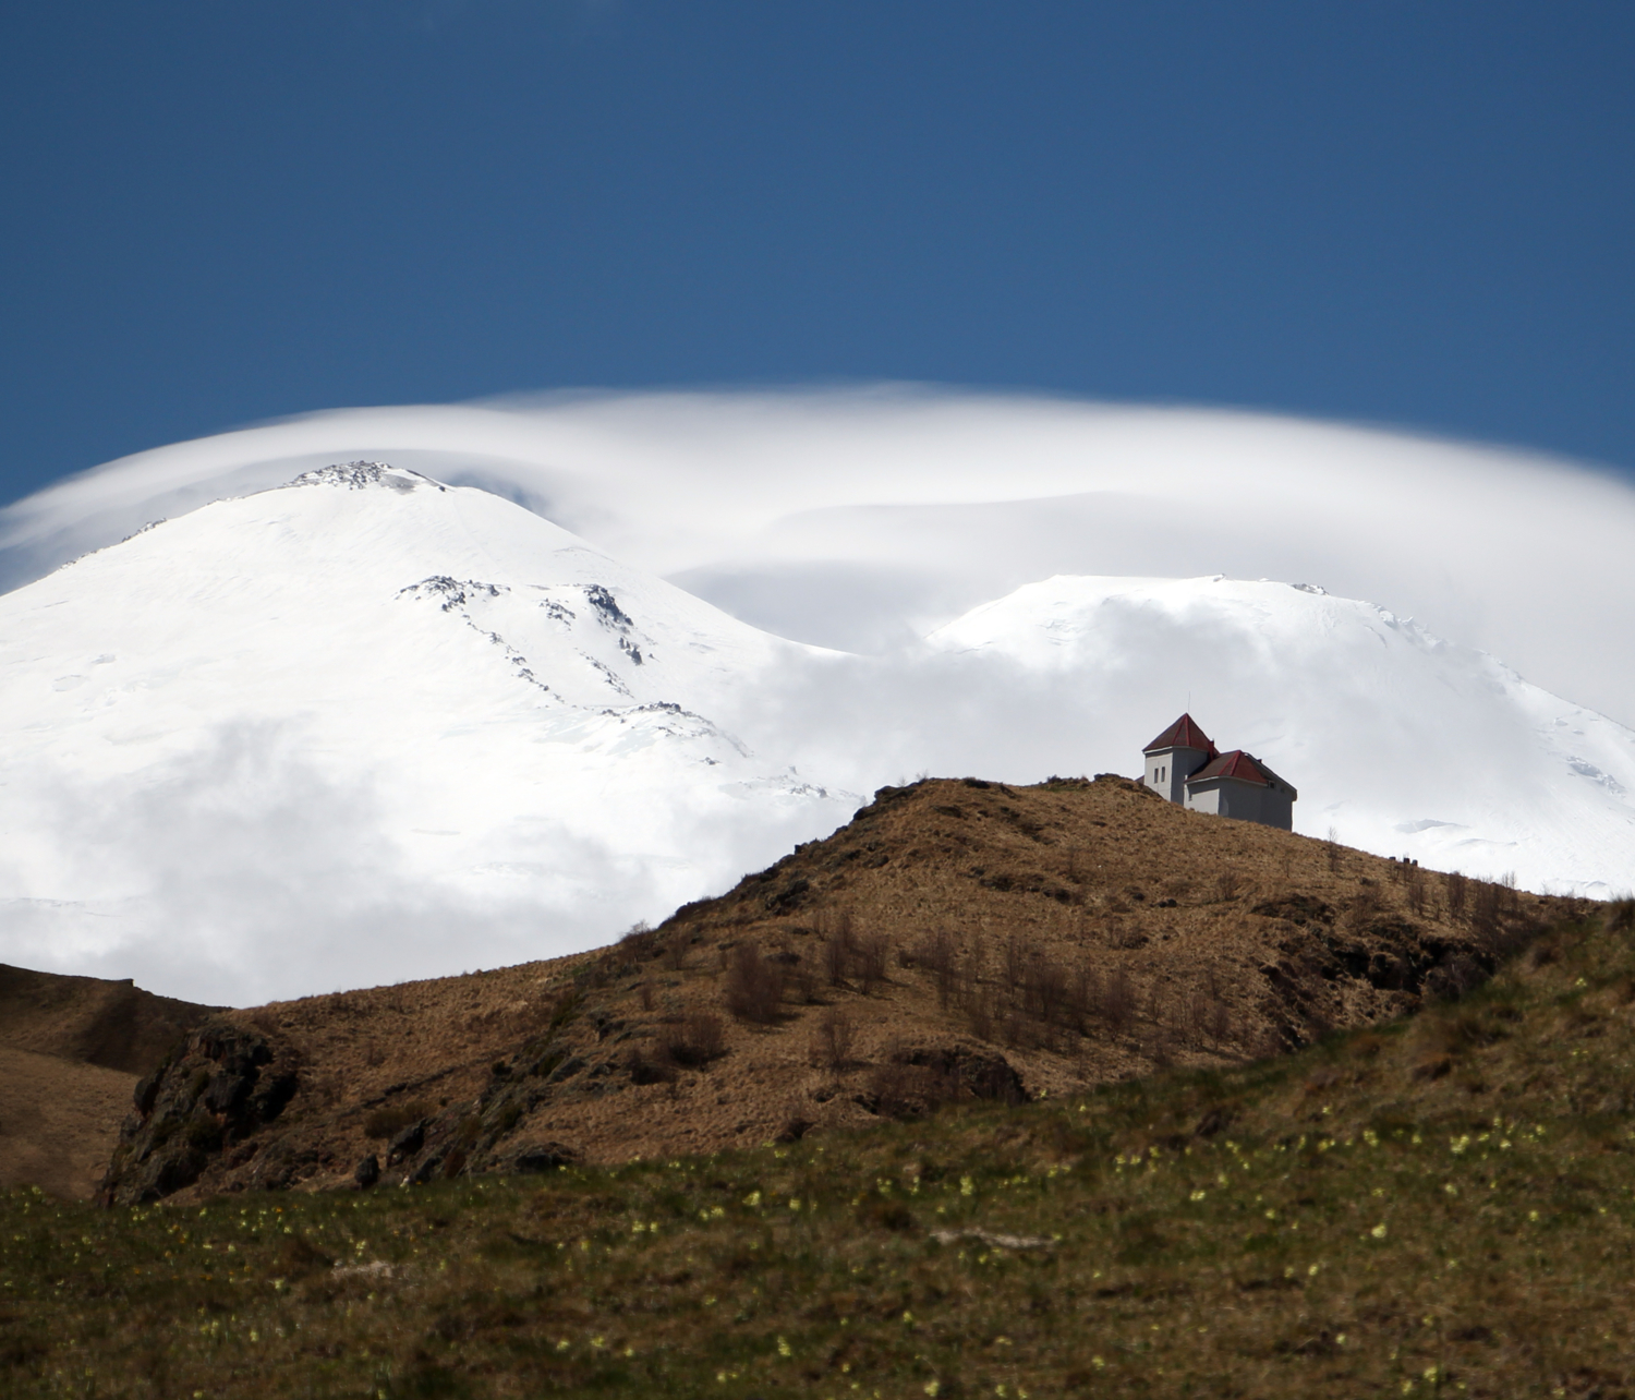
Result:
<instances>
[{"instance_id":1,"label":"taller left snow-covered peak with dark rocks near its summit","mask_svg":"<svg viewBox=\"0 0 1635 1400\"><path fill-rule=\"evenodd\" d=\"M808 656L355 463L0 597L0 957L198 999L605 942L857 801L711 710Z\"/></svg>"}]
</instances>

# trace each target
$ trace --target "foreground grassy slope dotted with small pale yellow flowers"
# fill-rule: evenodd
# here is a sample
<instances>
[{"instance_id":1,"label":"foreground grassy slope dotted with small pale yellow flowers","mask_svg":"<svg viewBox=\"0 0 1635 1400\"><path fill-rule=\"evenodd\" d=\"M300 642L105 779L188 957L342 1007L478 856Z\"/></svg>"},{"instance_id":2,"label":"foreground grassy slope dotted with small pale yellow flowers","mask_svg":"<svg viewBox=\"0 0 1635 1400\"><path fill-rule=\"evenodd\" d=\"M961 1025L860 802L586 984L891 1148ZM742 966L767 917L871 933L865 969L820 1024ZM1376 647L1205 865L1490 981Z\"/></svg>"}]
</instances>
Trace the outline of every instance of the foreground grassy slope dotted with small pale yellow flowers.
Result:
<instances>
[{"instance_id":1,"label":"foreground grassy slope dotted with small pale yellow flowers","mask_svg":"<svg viewBox=\"0 0 1635 1400\"><path fill-rule=\"evenodd\" d=\"M0 1199L7 1397L1635 1393L1630 906L1414 1021L719 1158Z\"/></svg>"}]
</instances>

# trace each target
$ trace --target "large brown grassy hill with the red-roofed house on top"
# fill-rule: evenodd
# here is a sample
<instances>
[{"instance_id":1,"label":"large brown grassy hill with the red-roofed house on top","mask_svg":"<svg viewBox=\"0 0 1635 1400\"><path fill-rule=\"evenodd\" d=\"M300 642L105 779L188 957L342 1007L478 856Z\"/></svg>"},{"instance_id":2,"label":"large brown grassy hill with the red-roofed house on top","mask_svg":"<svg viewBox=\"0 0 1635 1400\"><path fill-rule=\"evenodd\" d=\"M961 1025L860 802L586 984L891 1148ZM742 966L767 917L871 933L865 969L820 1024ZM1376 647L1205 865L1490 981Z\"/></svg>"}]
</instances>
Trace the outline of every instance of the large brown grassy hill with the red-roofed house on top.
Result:
<instances>
[{"instance_id":1,"label":"large brown grassy hill with the red-roofed house on top","mask_svg":"<svg viewBox=\"0 0 1635 1400\"><path fill-rule=\"evenodd\" d=\"M110 1199L711 1153L1241 1063L1568 913L1125 779L883 788L613 949L275 1003L146 1084Z\"/></svg>"}]
</instances>

